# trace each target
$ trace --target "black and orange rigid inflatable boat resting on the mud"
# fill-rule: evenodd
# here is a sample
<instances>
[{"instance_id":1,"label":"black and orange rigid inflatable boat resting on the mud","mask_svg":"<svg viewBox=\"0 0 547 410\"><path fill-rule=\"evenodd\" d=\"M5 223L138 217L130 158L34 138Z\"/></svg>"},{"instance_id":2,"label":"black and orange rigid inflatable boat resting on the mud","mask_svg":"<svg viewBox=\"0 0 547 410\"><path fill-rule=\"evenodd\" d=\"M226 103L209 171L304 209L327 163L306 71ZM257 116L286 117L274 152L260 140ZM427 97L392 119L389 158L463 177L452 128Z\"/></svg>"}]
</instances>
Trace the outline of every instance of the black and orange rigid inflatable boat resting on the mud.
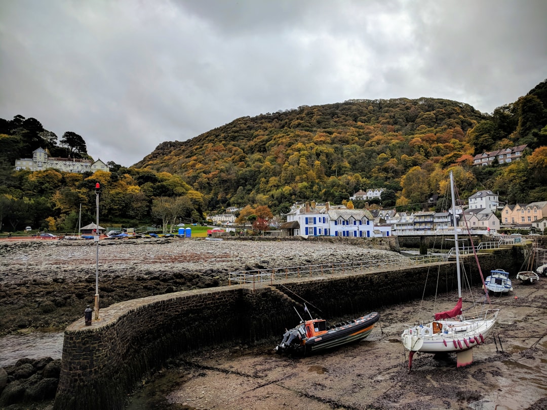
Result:
<instances>
[{"instance_id":1,"label":"black and orange rigid inflatable boat resting on the mud","mask_svg":"<svg viewBox=\"0 0 547 410\"><path fill-rule=\"evenodd\" d=\"M307 308L305 310L307 311ZM370 335L374 324L379 319L380 314L372 312L360 318L329 327L324 319L301 320L298 326L284 333L283 340L276 346L275 352L279 354L307 355L357 342Z\"/></svg>"}]
</instances>

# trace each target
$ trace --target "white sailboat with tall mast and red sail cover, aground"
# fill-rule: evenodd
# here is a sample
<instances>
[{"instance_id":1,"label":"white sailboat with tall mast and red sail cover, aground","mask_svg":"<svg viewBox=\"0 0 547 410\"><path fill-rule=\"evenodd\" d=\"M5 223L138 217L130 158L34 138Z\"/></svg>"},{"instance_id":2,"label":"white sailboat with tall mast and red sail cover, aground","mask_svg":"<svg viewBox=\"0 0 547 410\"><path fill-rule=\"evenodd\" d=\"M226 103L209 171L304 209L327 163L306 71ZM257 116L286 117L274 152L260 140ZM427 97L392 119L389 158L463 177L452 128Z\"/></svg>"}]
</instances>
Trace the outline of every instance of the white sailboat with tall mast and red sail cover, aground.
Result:
<instances>
[{"instance_id":1,"label":"white sailboat with tall mast and red sail cover, aground","mask_svg":"<svg viewBox=\"0 0 547 410\"><path fill-rule=\"evenodd\" d=\"M485 338L492 333L499 312L499 309L487 309L480 315L475 315L470 319L465 318L462 313L462 279L452 172L450 172L450 187L456 249L458 302L450 311L435 313L434 320L429 323L409 327L403 331L401 341L404 348L409 350L409 369L412 367L412 356L416 352L456 353L457 367L470 365L473 362L473 348L484 343ZM485 296L490 301L488 295Z\"/></svg>"}]
</instances>

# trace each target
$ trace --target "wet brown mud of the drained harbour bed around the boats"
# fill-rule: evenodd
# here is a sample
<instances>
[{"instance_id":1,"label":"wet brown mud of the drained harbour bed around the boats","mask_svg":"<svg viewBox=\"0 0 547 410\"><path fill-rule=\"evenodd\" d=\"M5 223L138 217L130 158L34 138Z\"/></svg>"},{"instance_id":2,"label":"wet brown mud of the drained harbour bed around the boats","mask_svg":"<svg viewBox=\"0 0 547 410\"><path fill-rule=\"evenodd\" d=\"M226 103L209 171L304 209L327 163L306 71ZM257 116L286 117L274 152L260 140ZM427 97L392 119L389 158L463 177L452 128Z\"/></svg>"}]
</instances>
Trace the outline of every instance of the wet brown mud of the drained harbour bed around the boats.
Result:
<instances>
[{"instance_id":1,"label":"wet brown mud of the drained harbour bed around the boats","mask_svg":"<svg viewBox=\"0 0 547 410\"><path fill-rule=\"evenodd\" d=\"M369 338L321 355L274 354L277 339L184 355L143 380L127 408L544 409L547 279L531 285L515 279L514 288L510 295L492 297L492 307L501 309L495 343L490 336L474 348L468 367L456 368L455 354L444 359L417 354L409 372L400 333L417 319L420 306L434 311L429 299L377 309L381 319ZM480 289L474 296L480 300ZM455 297L438 298L437 311L451 308ZM464 298L464 308L469 303Z\"/></svg>"}]
</instances>

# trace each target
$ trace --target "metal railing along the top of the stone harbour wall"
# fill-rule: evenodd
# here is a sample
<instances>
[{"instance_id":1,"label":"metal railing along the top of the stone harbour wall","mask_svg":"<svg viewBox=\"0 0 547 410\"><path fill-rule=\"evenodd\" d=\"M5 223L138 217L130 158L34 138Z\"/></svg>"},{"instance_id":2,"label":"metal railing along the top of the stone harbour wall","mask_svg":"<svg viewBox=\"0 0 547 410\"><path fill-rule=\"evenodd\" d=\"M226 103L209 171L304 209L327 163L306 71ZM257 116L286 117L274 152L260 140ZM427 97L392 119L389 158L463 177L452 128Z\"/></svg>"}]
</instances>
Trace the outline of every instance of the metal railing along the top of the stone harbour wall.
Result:
<instances>
[{"instance_id":1,"label":"metal railing along the top of the stone harbour wall","mask_svg":"<svg viewBox=\"0 0 547 410\"><path fill-rule=\"evenodd\" d=\"M427 263L445 262L448 254L401 256L392 259L379 259L367 261L317 263L316 265L288 266L282 268L257 269L250 271L230 272L228 284L252 284L254 286L274 284L281 279L329 277L336 274L386 269L403 270L409 266L426 265Z\"/></svg>"}]
</instances>

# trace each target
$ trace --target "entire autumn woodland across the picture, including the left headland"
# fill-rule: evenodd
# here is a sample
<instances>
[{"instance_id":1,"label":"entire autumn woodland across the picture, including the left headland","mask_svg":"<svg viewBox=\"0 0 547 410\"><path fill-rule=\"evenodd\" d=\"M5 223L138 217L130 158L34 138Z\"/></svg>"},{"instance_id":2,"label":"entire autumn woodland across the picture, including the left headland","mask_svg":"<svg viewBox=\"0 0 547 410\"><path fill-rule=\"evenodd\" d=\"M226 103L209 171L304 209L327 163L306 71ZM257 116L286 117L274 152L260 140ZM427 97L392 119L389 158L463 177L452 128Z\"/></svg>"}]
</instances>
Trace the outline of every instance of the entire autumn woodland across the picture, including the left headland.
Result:
<instances>
[{"instance_id":1,"label":"entire autumn woodland across the picture, including the left headland","mask_svg":"<svg viewBox=\"0 0 547 410\"><path fill-rule=\"evenodd\" d=\"M69 231L80 204L89 223L97 181L101 220L125 226L199 221L229 206L284 214L296 201L340 204L369 188L384 189L376 206L423 209L444 192L451 170L463 198L489 189L503 202L547 200L547 81L492 115L439 98L359 99L238 118L164 142L132 167L109 162L111 172L13 170L38 147L87 155L78 134L56 139L36 119L0 119L0 230ZM528 145L521 161L473 166L476 154L521 144Z\"/></svg>"}]
</instances>

